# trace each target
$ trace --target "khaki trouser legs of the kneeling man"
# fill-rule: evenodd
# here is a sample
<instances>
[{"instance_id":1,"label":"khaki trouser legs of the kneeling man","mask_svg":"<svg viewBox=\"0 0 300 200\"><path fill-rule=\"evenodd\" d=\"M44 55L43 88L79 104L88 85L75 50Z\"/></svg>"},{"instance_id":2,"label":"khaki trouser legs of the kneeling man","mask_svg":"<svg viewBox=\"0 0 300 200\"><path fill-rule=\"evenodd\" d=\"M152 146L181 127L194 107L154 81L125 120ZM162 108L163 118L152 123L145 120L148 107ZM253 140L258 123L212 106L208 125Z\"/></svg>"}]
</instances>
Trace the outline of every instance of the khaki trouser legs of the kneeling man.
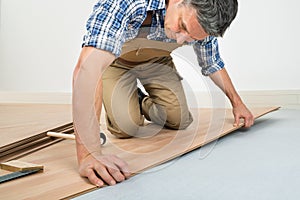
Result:
<instances>
[{"instance_id":1,"label":"khaki trouser legs of the kneeling man","mask_svg":"<svg viewBox=\"0 0 300 200\"><path fill-rule=\"evenodd\" d=\"M149 94L142 102L137 79ZM171 129L185 129L193 121L171 56L128 64L116 59L103 74L103 103L108 130L118 138L138 136L144 117Z\"/></svg>"}]
</instances>

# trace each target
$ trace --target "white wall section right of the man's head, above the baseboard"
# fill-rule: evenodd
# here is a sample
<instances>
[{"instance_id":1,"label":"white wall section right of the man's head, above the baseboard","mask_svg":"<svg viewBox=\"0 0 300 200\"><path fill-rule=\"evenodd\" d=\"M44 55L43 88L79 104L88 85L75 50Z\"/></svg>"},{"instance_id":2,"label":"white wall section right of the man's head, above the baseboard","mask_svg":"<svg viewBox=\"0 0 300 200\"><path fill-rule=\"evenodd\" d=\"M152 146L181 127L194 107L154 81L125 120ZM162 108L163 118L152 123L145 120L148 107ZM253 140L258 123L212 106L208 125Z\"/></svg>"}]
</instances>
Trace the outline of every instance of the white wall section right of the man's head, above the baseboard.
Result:
<instances>
[{"instance_id":1,"label":"white wall section right of the man's head, above the baseboard","mask_svg":"<svg viewBox=\"0 0 300 200\"><path fill-rule=\"evenodd\" d=\"M240 1L222 54L241 90L300 89L297 0Z\"/></svg>"}]
</instances>

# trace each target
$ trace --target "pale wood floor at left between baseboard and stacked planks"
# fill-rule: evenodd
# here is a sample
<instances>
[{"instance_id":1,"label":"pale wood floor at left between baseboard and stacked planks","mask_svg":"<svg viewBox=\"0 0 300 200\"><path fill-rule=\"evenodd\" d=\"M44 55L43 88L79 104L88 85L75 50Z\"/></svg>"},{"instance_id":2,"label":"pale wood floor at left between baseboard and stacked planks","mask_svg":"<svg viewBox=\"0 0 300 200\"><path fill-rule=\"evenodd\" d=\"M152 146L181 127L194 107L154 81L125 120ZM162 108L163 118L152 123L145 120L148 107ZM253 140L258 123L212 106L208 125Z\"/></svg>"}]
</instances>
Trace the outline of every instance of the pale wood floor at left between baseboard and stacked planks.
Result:
<instances>
[{"instance_id":1,"label":"pale wood floor at left between baseboard and stacked planks","mask_svg":"<svg viewBox=\"0 0 300 200\"><path fill-rule=\"evenodd\" d=\"M0 104L0 148L71 122L71 105Z\"/></svg>"}]
</instances>

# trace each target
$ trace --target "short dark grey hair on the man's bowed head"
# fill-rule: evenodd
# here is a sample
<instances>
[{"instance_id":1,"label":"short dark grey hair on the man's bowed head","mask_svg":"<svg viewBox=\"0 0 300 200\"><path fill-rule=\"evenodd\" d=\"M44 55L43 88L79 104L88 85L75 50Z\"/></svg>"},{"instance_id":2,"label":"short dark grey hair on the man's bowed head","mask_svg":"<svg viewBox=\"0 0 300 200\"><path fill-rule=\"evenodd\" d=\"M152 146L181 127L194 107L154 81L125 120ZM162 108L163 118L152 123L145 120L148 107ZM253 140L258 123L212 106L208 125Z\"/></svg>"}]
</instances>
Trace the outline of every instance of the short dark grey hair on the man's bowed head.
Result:
<instances>
[{"instance_id":1,"label":"short dark grey hair on the man's bowed head","mask_svg":"<svg viewBox=\"0 0 300 200\"><path fill-rule=\"evenodd\" d=\"M184 0L183 4L196 9L198 22L212 36L223 36L238 11L237 0Z\"/></svg>"}]
</instances>

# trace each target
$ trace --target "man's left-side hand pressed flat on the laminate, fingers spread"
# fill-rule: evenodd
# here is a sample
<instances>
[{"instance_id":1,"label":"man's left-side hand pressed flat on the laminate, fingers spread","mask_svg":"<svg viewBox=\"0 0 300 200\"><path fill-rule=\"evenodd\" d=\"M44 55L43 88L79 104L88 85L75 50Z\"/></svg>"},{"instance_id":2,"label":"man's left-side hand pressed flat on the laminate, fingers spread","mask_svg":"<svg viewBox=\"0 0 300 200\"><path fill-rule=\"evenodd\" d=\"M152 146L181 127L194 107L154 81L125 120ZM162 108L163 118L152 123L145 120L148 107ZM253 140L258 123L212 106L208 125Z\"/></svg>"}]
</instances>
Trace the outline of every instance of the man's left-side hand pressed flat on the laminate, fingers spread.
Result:
<instances>
[{"instance_id":1,"label":"man's left-side hand pressed flat on the laminate, fingers spread","mask_svg":"<svg viewBox=\"0 0 300 200\"><path fill-rule=\"evenodd\" d=\"M79 163L79 174L97 187L115 185L130 176L127 163L117 156L100 155L95 159L91 154Z\"/></svg>"}]
</instances>

